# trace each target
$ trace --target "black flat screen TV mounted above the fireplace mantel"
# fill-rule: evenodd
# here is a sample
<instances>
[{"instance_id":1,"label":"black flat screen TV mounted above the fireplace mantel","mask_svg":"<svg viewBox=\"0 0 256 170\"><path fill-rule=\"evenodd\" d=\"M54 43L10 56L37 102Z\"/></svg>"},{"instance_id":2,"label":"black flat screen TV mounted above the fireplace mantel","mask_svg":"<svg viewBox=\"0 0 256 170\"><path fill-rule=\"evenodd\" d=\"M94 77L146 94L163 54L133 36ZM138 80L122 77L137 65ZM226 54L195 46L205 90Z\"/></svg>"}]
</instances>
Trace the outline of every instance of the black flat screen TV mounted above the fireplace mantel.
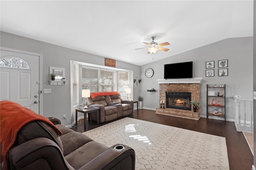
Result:
<instances>
[{"instance_id":1,"label":"black flat screen TV mounted above the fireplace mantel","mask_svg":"<svg viewBox=\"0 0 256 170\"><path fill-rule=\"evenodd\" d=\"M164 79L192 78L193 61L164 65Z\"/></svg>"}]
</instances>

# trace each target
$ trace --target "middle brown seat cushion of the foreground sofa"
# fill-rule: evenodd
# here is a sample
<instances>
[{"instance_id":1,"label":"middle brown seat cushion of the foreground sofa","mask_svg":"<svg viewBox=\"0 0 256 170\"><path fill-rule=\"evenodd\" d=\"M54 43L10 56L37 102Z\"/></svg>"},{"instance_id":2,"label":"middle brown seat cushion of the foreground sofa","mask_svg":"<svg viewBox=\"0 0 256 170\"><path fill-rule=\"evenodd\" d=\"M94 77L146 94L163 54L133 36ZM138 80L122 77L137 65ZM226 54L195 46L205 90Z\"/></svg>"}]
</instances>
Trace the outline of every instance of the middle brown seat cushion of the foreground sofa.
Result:
<instances>
[{"instance_id":1,"label":"middle brown seat cushion of the foreground sofa","mask_svg":"<svg viewBox=\"0 0 256 170\"><path fill-rule=\"evenodd\" d=\"M80 132L69 132L60 136L63 145L63 155L73 152L77 148L83 146L84 144L93 141L88 136L80 133Z\"/></svg>"}]
</instances>

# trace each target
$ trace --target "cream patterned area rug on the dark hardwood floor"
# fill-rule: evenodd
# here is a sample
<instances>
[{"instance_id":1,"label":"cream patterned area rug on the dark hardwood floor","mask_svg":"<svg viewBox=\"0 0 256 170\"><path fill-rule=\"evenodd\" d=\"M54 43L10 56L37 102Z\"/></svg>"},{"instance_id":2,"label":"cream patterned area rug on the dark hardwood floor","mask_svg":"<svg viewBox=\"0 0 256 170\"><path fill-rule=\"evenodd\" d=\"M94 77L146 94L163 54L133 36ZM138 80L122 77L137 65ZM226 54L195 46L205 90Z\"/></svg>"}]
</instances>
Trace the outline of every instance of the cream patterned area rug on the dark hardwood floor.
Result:
<instances>
[{"instance_id":1,"label":"cream patterned area rug on the dark hardwood floor","mask_svg":"<svg viewBox=\"0 0 256 170\"><path fill-rule=\"evenodd\" d=\"M108 147L126 144L135 150L136 170L228 170L226 138L124 118L84 132Z\"/></svg>"}]
</instances>

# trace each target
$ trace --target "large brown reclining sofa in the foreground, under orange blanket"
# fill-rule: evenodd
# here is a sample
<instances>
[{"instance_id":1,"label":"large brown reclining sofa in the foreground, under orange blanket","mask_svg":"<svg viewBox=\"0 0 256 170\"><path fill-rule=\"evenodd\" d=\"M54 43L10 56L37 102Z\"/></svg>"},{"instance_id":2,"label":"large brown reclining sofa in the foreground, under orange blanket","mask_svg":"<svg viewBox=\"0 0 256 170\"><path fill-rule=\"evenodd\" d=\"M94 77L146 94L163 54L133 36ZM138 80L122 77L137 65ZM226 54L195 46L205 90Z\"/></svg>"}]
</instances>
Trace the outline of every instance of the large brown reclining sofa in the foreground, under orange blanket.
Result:
<instances>
[{"instance_id":1,"label":"large brown reclining sofa in the foreground, under orange blanket","mask_svg":"<svg viewBox=\"0 0 256 170\"><path fill-rule=\"evenodd\" d=\"M55 119L56 123L56 119ZM104 146L88 136L57 124L58 136L47 123L32 121L17 134L8 152L10 169L22 170L100 170L135 168L135 152L123 145L123 150Z\"/></svg>"}]
</instances>

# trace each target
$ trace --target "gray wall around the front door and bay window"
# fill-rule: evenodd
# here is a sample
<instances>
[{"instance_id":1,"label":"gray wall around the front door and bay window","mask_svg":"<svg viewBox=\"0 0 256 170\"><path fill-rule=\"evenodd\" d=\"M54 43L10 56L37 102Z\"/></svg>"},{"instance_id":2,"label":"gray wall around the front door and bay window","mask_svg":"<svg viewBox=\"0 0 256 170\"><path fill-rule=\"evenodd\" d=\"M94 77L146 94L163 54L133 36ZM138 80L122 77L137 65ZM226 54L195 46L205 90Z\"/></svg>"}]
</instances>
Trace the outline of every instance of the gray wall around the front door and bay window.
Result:
<instances>
[{"instance_id":1,"label":"gray wall around the front door and bay window","mask_svg":"<svg viewBox=\"0 0 256 170\"><path fill-rule=\"evenodd\" d=\"M34 53L40 53L43 55L43 68L42 68L42 88L51 89L52 93L42 93L43 103L43 116L44 117L57 117L62 121L63 125L70 125L74 122L74 109L71 107L70 99L70 60L81 61L84 63L91 63L96 65L104 65L105 58L53 45L50 43L40 42L29 38L17 36L14 34L8 34L6 32L0 32L1 47L7 47L12 49L19 49L22 51L29 51ZM49 66L52 67L64 67L66 73L66 84L62 86L49 85ZM116 68L127 69L134 72L135 75L140 75L140 66L122 61L116 61ZM131 83L131 85L134 85ZM140 89L135 87L133 89L134 99L138 98ZM71 112L71 114L70 114ZM65 122L62 120L62 115L66 114Z\"/></svg>"}]
</instances>

